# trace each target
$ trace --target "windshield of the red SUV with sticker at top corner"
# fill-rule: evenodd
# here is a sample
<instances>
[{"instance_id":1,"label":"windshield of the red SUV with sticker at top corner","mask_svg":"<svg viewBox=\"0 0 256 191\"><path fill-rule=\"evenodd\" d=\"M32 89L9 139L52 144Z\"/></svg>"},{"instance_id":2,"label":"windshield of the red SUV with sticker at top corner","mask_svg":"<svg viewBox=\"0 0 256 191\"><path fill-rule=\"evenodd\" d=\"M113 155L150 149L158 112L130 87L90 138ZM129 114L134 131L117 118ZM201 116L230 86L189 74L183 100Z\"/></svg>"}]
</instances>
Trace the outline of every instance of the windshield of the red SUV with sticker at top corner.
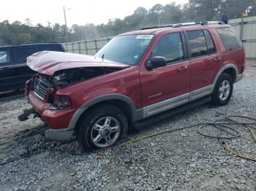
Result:
<instances>
[{"instance_id":1,"label":"windshield of the red SUV with sticker at top corner","mask_svg":"<svg viewBox=\"0 0 256 191\"><path fill-rule=\"evenodd\" d=\"M95 55L109 61L136 65L154 35L116 36Z\"/></svg>"}]
</instances>

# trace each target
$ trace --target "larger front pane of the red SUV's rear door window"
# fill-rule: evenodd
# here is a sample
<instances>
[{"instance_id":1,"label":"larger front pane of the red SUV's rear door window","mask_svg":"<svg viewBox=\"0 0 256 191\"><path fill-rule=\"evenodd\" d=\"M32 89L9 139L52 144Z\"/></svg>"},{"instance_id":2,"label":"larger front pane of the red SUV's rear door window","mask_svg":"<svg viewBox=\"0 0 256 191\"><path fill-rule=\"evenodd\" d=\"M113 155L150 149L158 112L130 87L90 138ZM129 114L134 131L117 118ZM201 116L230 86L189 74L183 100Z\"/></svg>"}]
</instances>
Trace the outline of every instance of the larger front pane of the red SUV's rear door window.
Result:
<instances>
[{"instance_id":1,"label":"larger front pane of the red SUV's rear door window","mask_svg":"<svg viewBox=\"0 0 256 191\"><path fill-rule=\"evenodd\" d=\"M192 58L208 54L206 38L202 30L187 31L187 36L189 39L189 49Z\"/></svg>"}]
</instances>

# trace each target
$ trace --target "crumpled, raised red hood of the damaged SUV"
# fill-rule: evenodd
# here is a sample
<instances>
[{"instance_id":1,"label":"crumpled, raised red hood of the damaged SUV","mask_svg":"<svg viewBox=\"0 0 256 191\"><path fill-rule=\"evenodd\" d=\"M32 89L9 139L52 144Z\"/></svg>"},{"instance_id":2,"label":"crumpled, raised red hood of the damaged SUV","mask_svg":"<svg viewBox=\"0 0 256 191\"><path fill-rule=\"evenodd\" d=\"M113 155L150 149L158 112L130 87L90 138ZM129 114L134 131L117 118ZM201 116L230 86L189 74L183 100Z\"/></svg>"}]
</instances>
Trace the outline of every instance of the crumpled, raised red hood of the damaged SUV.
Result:
<instances>
[{"instance_id":1,"label":"crumpled, raised red hood of the damaged SUV","mask_svg":"<svg viewBox=\"0 0 256 191\"><path fill-rule=\"evenodd\" d=\"M27 58L30 69L41 74L53 76L56 71L85 67L127 68L129 65L116 63L91 55L79 55L68 52L42 51Z\"/></svg>"}]
</instances>

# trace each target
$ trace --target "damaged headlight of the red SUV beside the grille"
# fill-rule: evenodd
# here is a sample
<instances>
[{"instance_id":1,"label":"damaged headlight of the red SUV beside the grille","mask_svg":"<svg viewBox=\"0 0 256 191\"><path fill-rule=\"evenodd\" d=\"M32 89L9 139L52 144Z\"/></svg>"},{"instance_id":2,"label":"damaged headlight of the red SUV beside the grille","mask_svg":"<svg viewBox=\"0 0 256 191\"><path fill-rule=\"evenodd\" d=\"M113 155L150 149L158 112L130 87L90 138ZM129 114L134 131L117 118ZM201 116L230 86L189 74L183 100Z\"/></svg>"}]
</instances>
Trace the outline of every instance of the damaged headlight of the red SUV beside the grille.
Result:
<instances>
[{"instance_id":1,"label":"damaged headlight of the red SUV beside the grille","mask_svg":"<svg viewBox=\"0 0 256 191\"><path fill-rule=\"evenodd\" d=\"M51 106L51 109L71 109L71 99L68 95L54 95L54 101L53 105Z\"/></svg>"}]
</instances>

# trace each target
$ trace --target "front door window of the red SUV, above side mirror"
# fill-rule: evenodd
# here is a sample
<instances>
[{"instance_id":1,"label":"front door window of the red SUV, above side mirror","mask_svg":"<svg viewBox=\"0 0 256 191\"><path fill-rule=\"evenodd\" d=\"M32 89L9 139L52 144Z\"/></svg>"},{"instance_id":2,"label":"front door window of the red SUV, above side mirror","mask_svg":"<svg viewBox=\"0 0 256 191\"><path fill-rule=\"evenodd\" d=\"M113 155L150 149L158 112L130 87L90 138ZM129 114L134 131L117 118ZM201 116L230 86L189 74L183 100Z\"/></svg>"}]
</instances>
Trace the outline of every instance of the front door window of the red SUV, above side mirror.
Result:
<instances>
[{"instance_id":1,"label":"front door window of the red SUV, above side mirror","mask_svg":"<svg viewBox=\"0 0 256 191\"><path fill-rule=\"evenodd\" d=\"M184 52L179 33L166 34L162 36L156 47L152 51L151 58L154 56L165 57L167 63L184 60Z\"/></svg>"}]
</instances>

